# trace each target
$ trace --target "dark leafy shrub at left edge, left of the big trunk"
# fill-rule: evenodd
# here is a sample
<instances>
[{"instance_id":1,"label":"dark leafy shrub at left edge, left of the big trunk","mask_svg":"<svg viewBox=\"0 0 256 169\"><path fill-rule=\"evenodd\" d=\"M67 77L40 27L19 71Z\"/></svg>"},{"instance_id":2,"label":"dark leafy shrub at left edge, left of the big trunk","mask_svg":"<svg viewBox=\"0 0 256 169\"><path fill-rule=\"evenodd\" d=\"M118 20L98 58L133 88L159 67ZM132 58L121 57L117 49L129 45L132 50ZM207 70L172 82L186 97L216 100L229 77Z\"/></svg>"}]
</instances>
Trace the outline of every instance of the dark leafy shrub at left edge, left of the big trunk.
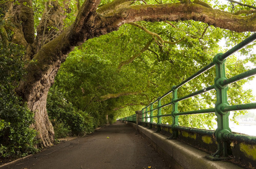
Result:
<instances>
[{"instance_id":1,"label":"dark leafy shrub at left edge, left of the big trunk","mask_svg":"<svg viewBox=\"0 0 256 169\"><path fill-rule=\"evenodd\" d=\"M15 93L25 73L23 55L22 46L9 43L6 47L0 39L0 159L37 151L36 131L30 127L34 114Z\"/></svg>"}]
</instances>

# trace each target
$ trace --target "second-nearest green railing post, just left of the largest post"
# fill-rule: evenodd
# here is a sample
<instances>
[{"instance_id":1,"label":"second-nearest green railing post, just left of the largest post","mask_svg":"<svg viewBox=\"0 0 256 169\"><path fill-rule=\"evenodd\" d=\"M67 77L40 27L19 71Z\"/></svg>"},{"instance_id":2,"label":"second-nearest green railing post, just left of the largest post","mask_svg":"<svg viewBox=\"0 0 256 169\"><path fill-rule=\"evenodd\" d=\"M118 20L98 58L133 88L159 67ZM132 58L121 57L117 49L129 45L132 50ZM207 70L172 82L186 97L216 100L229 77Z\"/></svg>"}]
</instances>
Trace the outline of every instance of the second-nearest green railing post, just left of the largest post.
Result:
<instances>
[{"instance_id":1,"label":"second-nearest green railing post, just left of the largest post","mask_svg":"<svg viewBox=\"0 0 256 169\"><path fill-rule=\"evenodd\" d=\"M176 126L179 126L178 123L178 117L177 115L175 115L178 111L178 102L176 102L175 100L178 99L178 94L177 91L178 89L175 89L176 86L173 86L172 91L173 91L173 98L172 98L172 105L173 105L173 111L172 111L172 117L173 117L173 124L172 124L172 131L173 131L173 135L170 136L169 139L176 139L178 137L178 130L175 129Z\"/></svg>"}]
</instances>

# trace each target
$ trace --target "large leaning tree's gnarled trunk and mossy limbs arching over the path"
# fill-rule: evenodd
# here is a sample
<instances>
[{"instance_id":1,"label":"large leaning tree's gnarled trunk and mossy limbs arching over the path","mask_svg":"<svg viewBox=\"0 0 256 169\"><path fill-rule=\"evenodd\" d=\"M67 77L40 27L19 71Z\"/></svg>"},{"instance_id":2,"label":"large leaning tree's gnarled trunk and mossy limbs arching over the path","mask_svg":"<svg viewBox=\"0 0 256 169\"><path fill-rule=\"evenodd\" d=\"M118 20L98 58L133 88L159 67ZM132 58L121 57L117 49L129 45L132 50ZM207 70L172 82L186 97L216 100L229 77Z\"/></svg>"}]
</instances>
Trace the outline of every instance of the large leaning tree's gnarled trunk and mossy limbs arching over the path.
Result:
<instances>
[{"instance_id":1,"label":"large leaning tree's gnarled trunk and mossy limbs arching over the path","mask_svg":"<svg viewBox=\"0 0 256 169\"><path fill-rule=\"evenodd\" d=\"M18 0L2 3L7 11L4 12L5 25L0 25L1 39L7 39L5 32L10 30L13 32L11 41L26 47L24 60L29 61L26 66L28 73L25 80L20 82L17 93L35 113L33 126L42 140L41 146L50 146L54 141L53 127L46 110L49 88L54 82L60 64L65 62L67 55L75 46L91 38L116 31L124 23L142 20L194 20L235 32L256 31L255 10L240 13L224 12L198 0L168 1L169 4L155 2L157 4L136 5L135 1L130 0L115 0L110 3L86 0L80 5L81 1L78 0L71 9L71 4L75 3L73 1L49 0L45 2L41 16L36 13L42 10L37 8L39 1ZM70 14L75 19L70 19L69 24L65 23L65 18ZM34 16L39 17L35 18L39 19L38 24L34 24ZM131 24L143 29L142 26ZM153 36L159 39L157 35ZM8 45L8 41L5 42Z\"/></svg>"}]
</instances>

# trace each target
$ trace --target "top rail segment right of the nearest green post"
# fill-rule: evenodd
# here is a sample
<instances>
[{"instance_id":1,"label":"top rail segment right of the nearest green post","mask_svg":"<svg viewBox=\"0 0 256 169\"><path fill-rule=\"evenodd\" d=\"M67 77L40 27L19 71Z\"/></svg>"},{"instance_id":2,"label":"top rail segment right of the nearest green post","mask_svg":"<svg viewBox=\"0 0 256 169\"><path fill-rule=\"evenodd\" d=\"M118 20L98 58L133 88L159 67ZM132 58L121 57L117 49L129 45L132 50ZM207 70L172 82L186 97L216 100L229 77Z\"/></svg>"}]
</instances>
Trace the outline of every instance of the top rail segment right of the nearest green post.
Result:
<instances>
[{"instance_id":1,"label":"top rail segment right of the nearest green post","mask_svg":"<svg viewBox=\"0 0 256 169\"><path fill-rule=\"evenodd\" d=\"M220 55L219 59L223 61L224 59L229 57L231 54L233 54L234 52L242 49L243 47L245 47L249 43L253 42L254 40L256 40L256 33L252 34L251 36L249 36L248 38L246 38L245 40L243 40L242 42L240 42L236 46L232 47L231 49L229 49L228 51L226 51L225 53Z\"/></svg>"}]
</instances>

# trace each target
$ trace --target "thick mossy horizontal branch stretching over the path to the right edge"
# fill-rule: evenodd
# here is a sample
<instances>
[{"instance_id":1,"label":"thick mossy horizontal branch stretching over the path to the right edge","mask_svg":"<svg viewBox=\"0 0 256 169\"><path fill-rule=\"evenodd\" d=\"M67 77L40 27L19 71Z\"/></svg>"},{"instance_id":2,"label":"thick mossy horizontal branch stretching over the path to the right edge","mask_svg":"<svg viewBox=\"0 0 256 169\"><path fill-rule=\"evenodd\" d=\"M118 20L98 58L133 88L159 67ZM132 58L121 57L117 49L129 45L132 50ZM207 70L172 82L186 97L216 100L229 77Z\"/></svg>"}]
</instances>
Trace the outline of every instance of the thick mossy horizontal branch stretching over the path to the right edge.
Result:
<instances>
[{"instance_id":1,"label":"thick mossy horizontal branch stretching over the path to the right edge","mask_svg":"<svg viewBox=\"0 0 256 169\"><path fill-rule=\"evenodd\" d=\"M164 4L130 6L108 15L113 26L135 21L195 20L235 32L256 31L256 15L237 16L198 4Z\"/></svg>"}]
</instances>

